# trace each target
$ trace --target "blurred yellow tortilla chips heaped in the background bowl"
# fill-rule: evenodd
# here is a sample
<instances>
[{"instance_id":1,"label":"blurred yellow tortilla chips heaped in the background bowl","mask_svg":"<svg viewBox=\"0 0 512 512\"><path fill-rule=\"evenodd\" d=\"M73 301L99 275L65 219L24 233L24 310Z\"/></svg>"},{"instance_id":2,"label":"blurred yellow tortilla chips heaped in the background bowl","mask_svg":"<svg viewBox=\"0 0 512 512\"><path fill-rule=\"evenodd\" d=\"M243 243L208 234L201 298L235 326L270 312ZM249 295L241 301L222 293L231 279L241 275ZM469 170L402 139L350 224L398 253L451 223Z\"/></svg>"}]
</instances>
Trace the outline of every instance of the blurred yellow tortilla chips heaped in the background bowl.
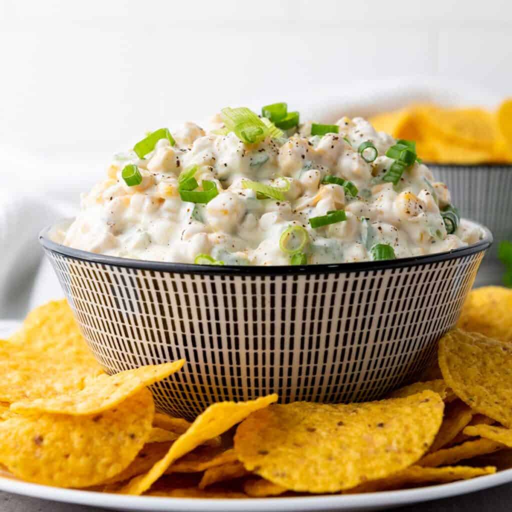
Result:
<instances>
[{"instance_id":1,"label":"blurred yellow tortilla chips heaped in the background bowl","mask_svg":"<svg viewBox=\"0 0 512 512\"><path fill-rule=\"evenodd\" d=\"M370 119L376 130L416 141L418 156L432 163L512 162L512 99L496 112L413 104Z\"/></svg>"}]
</instances>

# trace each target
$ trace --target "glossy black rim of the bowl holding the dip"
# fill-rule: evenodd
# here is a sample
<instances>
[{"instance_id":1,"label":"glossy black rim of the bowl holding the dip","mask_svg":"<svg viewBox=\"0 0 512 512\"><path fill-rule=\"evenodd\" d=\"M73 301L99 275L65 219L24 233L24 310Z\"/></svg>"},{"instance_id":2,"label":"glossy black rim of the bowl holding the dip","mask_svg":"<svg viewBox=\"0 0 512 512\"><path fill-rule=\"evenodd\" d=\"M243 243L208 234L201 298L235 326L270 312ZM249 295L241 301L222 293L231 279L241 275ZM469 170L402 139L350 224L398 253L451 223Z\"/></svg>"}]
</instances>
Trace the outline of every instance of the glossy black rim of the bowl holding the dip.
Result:
<instances>
[{"instance_id":1,"label":"glossy black rim of the bowl holding the dip","mask_svg":"<svg viewBox=\"0 0 512 512\"><path fill-rule=\"evenodd\" d=\"M64 221L62 221L64 222ZM60 223L59 223L60 224ZM477 243L465 247L459 247L447 252L426 254L397 260L364 261L356 263L333 263L321 265L275 265L275 266L251 266L251 265L195 265L191 263L168 263L158 261L133 260L116 256L106 256L94 252L73 249L66 245L53 242L49 238L49 232L54 225L45 227L39 233L39 242L47 250L62 254L74 260L84 260L102 265L127 267L140 270L154 270L157 272L180 274L215 274L215 275L290 275L290 274L325 274L325 273L350 273L372 270L386 270L417 265L428 265L446 260L455 260L464 256L475 254L488 249L493 243L493 235L485 226L474 222L479 226L484 237Z\"/></svg>"}]
</instances>

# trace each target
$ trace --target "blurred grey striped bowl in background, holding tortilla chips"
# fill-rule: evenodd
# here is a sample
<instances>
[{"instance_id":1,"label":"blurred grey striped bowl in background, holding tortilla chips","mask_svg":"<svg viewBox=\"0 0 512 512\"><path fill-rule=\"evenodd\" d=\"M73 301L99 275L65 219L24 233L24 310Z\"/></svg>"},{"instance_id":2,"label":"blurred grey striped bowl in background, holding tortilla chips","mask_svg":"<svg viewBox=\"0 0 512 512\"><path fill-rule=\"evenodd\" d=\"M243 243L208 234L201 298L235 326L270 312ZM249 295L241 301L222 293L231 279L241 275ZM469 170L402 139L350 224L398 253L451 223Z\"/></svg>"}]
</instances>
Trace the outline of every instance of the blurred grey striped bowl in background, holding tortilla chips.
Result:
<instances>
[{"instance_id":1,"label":"blurred grey striped bowl in background, holding tortilla chips","mask_svg":"<svg viewBox=\"0 0 512 512\"><path fill-rule=\"evenodd\" d=\"M488 259L496 259L502 240L512 241L512 165L428 164L437 180L448 185L452 200L466 219L487 226L495 244Z\"/></svg>"}]
</instances>

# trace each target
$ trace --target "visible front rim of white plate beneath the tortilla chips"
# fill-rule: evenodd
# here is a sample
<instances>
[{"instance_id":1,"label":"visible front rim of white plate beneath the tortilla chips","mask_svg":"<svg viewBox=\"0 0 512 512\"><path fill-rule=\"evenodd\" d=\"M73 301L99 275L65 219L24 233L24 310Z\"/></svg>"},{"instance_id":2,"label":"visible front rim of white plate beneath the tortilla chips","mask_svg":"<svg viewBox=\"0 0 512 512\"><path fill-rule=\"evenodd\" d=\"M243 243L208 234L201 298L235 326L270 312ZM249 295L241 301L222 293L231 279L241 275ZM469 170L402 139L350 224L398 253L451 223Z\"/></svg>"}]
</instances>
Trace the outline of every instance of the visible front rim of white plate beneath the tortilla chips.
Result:
<instances>
[{"instance_id":1,"label":"visible front rim of white plate beneath the tortilla chips","mask_svg":"<svg viewBox=\"0 0 512 512\"><path fill-rule=\"evenodd\" d=\"M472 493L476 490L511 481L512 469L473 480L432 485L419 489L394 490L385 493L237 500L122 496L94 493L86 490L60 489L8 478L0 478L0 490L33 498L90 505L112 510L141 510L144 512L271 512L272 510L286 512L293 510L293 512L309 512L319 510L385 510L422 501Z\"/></svg>"}]
</instances>

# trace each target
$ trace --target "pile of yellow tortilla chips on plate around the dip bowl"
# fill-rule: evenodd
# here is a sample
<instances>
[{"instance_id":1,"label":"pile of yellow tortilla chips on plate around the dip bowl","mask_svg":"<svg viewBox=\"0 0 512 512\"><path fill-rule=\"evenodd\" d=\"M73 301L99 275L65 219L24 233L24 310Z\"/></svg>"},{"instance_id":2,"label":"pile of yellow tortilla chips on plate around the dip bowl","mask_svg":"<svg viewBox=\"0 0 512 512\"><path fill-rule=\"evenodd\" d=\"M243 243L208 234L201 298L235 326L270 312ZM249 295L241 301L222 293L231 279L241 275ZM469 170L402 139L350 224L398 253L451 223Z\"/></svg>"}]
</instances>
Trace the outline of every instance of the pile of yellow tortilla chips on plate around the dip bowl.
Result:
<instances>
[{"instance_id":1,"label":"pile of yellow tortilla chips on plate around the dip bowl","mask_svg":"<svg viewBox=\"0 0 512 512\"><path fill-rule=\"evenodd\" d=\"M147 389L183 360L107 375L67 304L50 303L0 341L0 476L96 492L249 498L492 474L512 466L508 304L512 290L474 290L459 327L475 332L447 333L430 380L384 400L285 405L269 395L213 404L190 423L155 412Z\"/></svg>"}]
</instances>

